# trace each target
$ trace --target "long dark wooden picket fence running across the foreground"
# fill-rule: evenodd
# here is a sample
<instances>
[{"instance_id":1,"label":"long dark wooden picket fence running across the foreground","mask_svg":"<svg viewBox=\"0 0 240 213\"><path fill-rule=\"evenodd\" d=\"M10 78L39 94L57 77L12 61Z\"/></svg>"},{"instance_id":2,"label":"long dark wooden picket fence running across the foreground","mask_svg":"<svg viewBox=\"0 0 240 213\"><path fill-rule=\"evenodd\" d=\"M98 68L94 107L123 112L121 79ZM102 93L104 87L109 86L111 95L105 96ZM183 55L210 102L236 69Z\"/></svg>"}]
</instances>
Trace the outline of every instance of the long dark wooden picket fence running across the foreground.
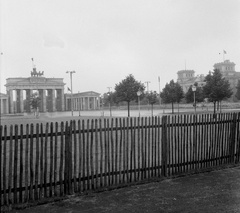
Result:
<instances>
[{"instance_id":1,"label":"long dark wooden picket fence running across the foreground","mask_svg":"<svg viewBox=\"0 0 240 213\"><path fill-rule=\"evenodd\" d=\"M0 203L11 205L238 163L240 114L0 127Z\"/></svg>"}]
</instances>

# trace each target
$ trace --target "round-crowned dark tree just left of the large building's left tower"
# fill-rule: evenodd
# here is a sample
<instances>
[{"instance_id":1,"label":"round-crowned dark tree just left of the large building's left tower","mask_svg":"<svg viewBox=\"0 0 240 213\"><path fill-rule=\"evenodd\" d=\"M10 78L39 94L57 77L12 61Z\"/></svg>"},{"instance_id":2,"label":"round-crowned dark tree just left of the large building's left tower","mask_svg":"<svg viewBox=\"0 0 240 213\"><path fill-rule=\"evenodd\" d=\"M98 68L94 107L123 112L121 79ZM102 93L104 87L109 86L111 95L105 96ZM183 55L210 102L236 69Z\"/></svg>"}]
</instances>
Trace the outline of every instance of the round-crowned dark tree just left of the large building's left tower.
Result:
<instances>
[{"instance_id":1,"label":"round-crowned dark tree just left of the large building's left tower","mask_svg":"<svg viewBox=\"0 0 240 213\"><path fill-rule=\"evenodd\" d=\"M164 103L172 103L172 113L174 113L173 104L175 102L179 103L184 97L183 89L179 83L171 80L170 83L167 83L165 88L163 88L160 97Z\"/></svg>"}]
</instances>

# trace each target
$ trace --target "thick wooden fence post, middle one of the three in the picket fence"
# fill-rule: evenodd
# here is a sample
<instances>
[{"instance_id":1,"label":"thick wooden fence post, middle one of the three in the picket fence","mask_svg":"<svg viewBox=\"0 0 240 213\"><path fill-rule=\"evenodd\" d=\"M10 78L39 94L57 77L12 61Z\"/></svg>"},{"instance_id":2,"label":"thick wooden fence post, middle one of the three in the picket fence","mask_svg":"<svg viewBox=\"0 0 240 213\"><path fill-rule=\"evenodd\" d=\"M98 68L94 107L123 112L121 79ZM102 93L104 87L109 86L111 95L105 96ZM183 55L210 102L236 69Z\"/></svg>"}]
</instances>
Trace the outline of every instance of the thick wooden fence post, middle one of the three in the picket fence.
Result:
<instances>
[{"instance_id":1,"label":"thick wooden fence post, middle one of the three in the picket fence","mask_svg":"<svg viewBox=\"0 0 240 213\"><path fill-rule=\"evenodd\" d=\"M167 116L162 117L162 174L167 176Z\"/></svg>"}]
</instances>

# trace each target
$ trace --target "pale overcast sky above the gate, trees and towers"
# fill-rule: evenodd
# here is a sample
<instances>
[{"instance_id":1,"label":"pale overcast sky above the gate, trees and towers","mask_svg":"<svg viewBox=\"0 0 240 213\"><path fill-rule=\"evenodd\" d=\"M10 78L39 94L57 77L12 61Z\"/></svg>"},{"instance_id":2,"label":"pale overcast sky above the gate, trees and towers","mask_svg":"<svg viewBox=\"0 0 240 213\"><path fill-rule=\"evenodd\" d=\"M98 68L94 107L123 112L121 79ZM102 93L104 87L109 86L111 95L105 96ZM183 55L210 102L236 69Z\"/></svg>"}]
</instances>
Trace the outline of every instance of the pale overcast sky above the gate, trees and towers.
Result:
<instances>
[{"instance_id":1,"label":"pale overcast sky above the gate, trees and towers","mask_svg":"<svg viewBox=\"0 0 240 213\"><path fill-rule=\"evenodd\" d=\"M177 71L240 71L240 0L0 0L1 92L6 78L75 70L73 92L105 93L133 74L159 91ZM221 54L219 54L221 53Z\"/></svg>"}]
</instances>

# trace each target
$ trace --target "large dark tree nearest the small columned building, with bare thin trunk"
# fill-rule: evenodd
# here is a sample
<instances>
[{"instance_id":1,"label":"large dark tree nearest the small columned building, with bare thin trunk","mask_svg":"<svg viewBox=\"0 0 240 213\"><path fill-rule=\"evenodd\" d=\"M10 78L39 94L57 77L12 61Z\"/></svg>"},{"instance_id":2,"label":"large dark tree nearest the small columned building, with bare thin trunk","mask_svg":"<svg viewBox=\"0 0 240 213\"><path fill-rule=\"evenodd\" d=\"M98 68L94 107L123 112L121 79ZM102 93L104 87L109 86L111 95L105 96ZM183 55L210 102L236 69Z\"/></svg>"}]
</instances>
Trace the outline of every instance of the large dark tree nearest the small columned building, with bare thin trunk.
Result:
<instances>
[{"instance_id":1,"label":"large dark tree nearest the small columned building, with bare thin trunk","mask_svg":"<svg viewBox=\"0 0 240 213\"><path fill-rule=\"evenodd\" d=\"M143 83L136 81L132 74L115 85L116 101L126 101L128 105L128 117L130 117L130 102L138 99L137 92L144 92L145 86Z\"/></svg>"}]
</instances>

